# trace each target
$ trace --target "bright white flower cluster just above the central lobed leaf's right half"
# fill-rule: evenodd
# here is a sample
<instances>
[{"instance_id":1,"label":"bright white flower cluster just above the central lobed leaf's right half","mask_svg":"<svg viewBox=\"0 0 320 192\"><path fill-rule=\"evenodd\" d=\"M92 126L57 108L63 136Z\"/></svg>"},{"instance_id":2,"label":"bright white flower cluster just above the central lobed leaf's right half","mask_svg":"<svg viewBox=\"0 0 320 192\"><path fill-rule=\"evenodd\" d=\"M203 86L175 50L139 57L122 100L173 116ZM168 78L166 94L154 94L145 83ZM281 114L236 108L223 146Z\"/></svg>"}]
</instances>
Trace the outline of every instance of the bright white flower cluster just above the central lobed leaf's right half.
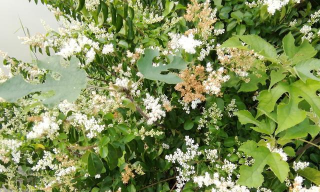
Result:
<instances>
[{"instance_id":1,"label":"bright white flower cluster just above the central lobed leaf's right half","mask_svg":"<svg viewBox=\"0 0 320 192\"><path fill-rule=\"evenodd\" d=\"M169 32L168 35L171 38L171 40L168 42L168 47L170 47L172 50L183 48L185 52L194 54L195 47L202 44L201 41L195 40L193 34L191 33L188 36L185 36Z\"/></svg>"}]
</instances>

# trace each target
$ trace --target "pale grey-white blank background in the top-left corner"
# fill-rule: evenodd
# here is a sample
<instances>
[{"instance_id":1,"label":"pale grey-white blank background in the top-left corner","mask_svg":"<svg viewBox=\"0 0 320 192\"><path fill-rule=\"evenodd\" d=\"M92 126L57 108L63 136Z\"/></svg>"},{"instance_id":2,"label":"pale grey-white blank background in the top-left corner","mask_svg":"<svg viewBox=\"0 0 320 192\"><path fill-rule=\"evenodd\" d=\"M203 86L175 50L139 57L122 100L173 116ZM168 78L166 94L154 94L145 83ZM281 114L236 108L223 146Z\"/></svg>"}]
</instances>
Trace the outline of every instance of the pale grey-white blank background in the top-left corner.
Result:
<instances>
[{"instance_id":1,"label":"pale grey-white blank background in the top-left corner","mask_svg":"<svg viewBox=\"0 0 320 192\"><path fill-rule=\"evenodd\" d=\"M30 2L28 0L0 0L0 50L19 60L30 61L32 57L28 46L21 44L17 38L17 36L24 36L19 17L31 35L45 32L41 18L53 29L57 28L58 23L40 0L38 4L35 4L34 0ZM0 57L1 67L2 60Z\"/></svg>"}]
</instances>

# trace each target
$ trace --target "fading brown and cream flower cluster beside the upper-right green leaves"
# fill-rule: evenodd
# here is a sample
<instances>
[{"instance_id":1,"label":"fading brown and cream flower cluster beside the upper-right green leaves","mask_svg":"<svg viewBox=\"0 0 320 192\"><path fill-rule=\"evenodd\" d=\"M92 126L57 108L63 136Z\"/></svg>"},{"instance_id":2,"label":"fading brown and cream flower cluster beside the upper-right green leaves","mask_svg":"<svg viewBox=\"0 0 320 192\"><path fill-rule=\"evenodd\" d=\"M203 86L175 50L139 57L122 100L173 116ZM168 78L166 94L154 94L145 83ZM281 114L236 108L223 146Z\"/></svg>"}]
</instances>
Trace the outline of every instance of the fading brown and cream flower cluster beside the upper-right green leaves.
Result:
<instances>
[{"instance_id":1,"label":"fading brown and cream flower cluster beside the upper-right green leaves","mask_svg":"<svg viewBox=\"0 0 320 192\"><path fill-rule=\"evenodd\" d=\"M216 52L220 63L224 66L228 66L231 71L235 72L245 81L250 80L247 79L249 71L256 73L256 71L265 70L263 61L253 50L218 48ZM258 73L256 73L256 75L258 75Z\"/></svg>"}]
</instances>

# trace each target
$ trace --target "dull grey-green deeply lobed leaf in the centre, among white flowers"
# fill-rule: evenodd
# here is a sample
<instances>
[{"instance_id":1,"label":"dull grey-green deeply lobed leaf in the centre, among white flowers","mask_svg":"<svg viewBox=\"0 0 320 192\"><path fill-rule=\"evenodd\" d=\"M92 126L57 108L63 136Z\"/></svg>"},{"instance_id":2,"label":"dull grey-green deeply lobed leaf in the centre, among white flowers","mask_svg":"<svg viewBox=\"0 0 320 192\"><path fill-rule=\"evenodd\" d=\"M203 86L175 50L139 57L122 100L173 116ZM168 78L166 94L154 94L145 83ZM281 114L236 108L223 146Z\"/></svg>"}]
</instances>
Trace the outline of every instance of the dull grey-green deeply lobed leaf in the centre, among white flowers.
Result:
<instances>
[{"instance_id":1,"label":"dull grey-green deeply lobed leaf in the centre, among white flowers","mask_svg":"<svg viewBox=\"0 0 320 192\"><path fill-rule=\"evenodd\" d=\"M143 76L147 79L164 81L168 84L181 82L182 79L173 72L168 72L168 69L184 69L186 68L186 62L181 57L174 55L173 60L169 64L163 65L162 63L159 63L159 66L152 66L153 58L158 55L158 49L147 48L144 50L144 56L142 56L136 63ZM161 72L168 73L161 74Z\"/></svg>"}]
</instances>

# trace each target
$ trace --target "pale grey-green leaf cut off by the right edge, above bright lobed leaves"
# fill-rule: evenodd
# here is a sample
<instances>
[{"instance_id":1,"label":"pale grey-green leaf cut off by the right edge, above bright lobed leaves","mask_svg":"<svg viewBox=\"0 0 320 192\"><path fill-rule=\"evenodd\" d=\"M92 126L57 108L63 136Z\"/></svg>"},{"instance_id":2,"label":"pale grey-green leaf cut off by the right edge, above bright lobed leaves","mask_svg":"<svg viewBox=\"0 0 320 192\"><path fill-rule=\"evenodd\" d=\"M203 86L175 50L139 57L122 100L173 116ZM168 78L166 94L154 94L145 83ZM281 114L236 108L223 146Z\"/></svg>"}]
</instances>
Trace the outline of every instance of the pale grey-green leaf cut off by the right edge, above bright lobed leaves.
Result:
<instances>
[{"instance_id":1,"label":"pale grey-green leaf cut off by the right edge, above bright lobed leaves","mask_svg":"<svg viewBox=\"0 0 320 192\"><path fill-rule=\"evenodd\" d=\"M294 66L295 71L297 71L297 75L303 82L305 82L308 78L320 81L320 78L315 77L311 72L312 70L319 68L320 60L316 58L301 60Z\"/></svg>"}]
</instances>

